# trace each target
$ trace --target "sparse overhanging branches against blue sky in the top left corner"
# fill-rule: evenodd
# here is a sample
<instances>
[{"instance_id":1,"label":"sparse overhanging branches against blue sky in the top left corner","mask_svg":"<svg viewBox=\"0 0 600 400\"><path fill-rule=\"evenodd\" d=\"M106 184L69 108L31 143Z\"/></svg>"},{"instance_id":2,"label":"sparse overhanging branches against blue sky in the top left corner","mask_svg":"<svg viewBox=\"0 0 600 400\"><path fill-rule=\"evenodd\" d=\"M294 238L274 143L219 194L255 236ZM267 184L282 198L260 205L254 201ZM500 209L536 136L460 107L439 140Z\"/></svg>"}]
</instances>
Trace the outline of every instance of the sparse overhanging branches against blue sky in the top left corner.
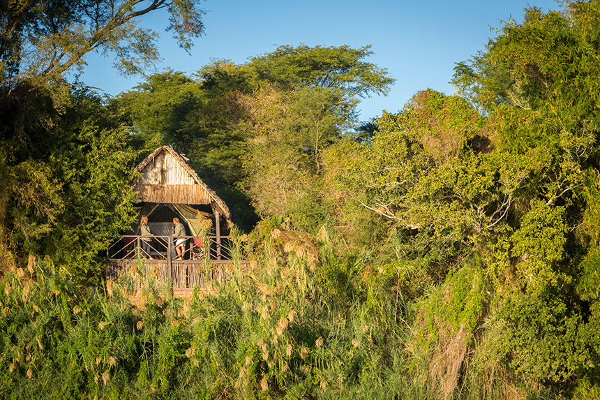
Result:
<instances>
[{"instance_id":1,"label":"sparse overhanging branches against blue sky in the top left corner","mask_svg":"<svg viewBox=\"0 0 600 400\"><path fill-rule=\"evenodd\" d=\"M3 86L7 77L52 85L70 68L82 68L85 55L92 51L112 52L115 66L123 73L140 73L158 59L153 43L157 34L136 22L160 8L169 10L168 29L174 31L181 47L189 50L191 39L204 31L197 1L140 3L8 1L0 8L5 27L0 48L6 56L2 59L9 61L0 64Z\"/></svg>"}]
</instances>

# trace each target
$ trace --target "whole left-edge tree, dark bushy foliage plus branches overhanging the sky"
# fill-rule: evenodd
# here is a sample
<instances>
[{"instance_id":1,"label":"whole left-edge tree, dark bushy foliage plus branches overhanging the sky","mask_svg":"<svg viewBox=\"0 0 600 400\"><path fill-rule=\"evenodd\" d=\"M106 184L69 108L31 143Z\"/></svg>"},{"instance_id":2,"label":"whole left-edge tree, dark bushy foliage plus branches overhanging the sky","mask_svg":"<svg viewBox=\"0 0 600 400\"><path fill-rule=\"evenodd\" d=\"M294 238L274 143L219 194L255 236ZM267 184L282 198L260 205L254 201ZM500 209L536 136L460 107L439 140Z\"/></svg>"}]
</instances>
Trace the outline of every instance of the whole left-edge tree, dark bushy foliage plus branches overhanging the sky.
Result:
<instances>
[{"instance_id":1,"label":"whole left-edge tree, dark bushy foliage plus branches overhanging the sky","mask_svg":"<svg viewBox=\"0 0 600 400\"><path fill-rule=\"evenodd\" d=\"M188 50L203 31L197 0L10 0L0 5L0 264L28 253L73 262L80 278L107 237L130 223L132 154L123 119L68 84L92 51L122 73L158 59L156 34L137 25L165 8Z\"/></svg>"}]
</instances>

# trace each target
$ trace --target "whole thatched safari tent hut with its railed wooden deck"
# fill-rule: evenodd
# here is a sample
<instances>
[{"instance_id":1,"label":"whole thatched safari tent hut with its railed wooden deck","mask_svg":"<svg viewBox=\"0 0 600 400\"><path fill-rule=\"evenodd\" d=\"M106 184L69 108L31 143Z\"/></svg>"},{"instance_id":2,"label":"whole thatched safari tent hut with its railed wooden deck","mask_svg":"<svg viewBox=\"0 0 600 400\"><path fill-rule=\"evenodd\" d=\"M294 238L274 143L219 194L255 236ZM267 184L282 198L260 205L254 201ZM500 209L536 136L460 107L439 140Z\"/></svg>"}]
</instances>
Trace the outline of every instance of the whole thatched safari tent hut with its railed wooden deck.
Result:
<instances>
[{"instance_id":1,"label":"whole thatched safari tent hut with its railed wooden deck","mask_svg":"<svg viewBox=\"0 0 600 400\"><path fill-rule=\"evenodd\" d=\"M230 211L225 202L170 146L158 147L137 165L132 185L139 200L137 222L107 249L107 277L113 279L135 260L158 269L174 290L203 286L201 266L212 265L216 278L230 260ZM140 218L148 217L149 251L142 251ZM183 260L175 260L173 218L186 228ZM224 269L225 268L225 269Z\"/></svg>"}]
</instances>

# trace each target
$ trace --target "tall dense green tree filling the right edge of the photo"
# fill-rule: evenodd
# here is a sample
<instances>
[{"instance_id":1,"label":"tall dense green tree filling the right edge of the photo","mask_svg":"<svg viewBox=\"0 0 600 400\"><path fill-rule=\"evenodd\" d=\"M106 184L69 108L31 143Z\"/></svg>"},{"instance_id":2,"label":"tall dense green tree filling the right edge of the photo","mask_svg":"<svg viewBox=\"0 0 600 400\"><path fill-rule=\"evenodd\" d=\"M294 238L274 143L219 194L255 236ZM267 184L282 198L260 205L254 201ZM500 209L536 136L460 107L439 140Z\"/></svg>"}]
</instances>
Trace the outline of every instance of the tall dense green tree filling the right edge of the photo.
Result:
<instances>
[{"instance_id":1,"label":"tall dense green tree filling the right edge of the photo","mask_svg":"<svg viewBox=\"0 0 600 400\"><path fill-rule=\"evenodd\" d=\"M524 381L597 383L599 17L597 1L527 8L455 68L458 89L488 114L501 168L527 172L503 184L512 205L486 246L495 334L481 349Z\"/></svg>"}]
</instances>

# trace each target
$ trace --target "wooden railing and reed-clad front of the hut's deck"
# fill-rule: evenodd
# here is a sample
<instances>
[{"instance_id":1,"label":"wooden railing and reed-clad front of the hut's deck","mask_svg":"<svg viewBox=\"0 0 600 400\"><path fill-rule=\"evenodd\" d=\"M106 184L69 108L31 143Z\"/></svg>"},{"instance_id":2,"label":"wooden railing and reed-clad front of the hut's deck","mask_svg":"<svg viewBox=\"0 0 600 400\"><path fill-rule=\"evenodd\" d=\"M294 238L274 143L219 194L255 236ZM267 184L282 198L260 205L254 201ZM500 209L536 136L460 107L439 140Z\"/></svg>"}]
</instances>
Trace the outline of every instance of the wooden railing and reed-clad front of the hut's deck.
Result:
<instances>
[{"instance_id":1,"label":"wooden railing and reed-clad front of the hut's deck","mask_svg":"<svg viewBox=\"0 0 600 400\"><path fill-rule=\"evenodd\" d=\"M181 259L175 250L177 239L186 239ZM210 281L223 282L233 274L229 236L152 236L147 250L142 237L126 235L106 251L107 279L117 279L136 262L143 261L158 281L172 283L174 293L195 287L207 288ZM246 262L241 260L241 265Z\"/></svg>"}]
</instances>

